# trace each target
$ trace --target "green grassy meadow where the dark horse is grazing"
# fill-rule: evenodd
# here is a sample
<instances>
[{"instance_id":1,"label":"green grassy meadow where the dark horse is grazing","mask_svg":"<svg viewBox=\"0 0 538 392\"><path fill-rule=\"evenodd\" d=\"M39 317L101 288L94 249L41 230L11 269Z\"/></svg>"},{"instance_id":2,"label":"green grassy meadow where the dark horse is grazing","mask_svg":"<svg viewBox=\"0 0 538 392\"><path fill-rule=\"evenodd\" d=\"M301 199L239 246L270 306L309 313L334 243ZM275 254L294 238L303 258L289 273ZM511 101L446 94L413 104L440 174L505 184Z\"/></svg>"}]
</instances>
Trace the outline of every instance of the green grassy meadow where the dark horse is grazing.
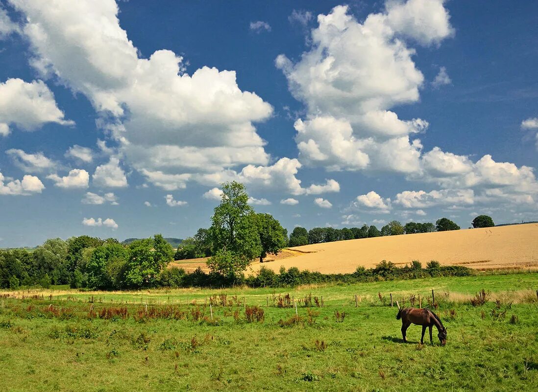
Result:
<instances>
[{"instance_id":1,"label":"green grassy meadow where the dark horse is grazing","mask_svg":"<svg viewBox=\"0 0 538 392\"><path fill-rule=\"evenodd\" d=\"M277 295L289 292L296 299L323 295L325 302L312 308L320 312L313 325L287 328L278 322L292 317L294 309L264 308L265 321L252 324L243 307L213 307L216 323L133 318L144 309L140 299L187 311L195 308L187 301L203 304L206 296L226 292L265 306L272 289L97 293L94 298L103 302L93 304L84 302L89 293L58 291L52 301L2 299L2 390L538 390L538 302L530 291L537 286L534 273L278 289ZM431 288L440 302L436 313L448 329L447 345L439 345L435 329L434 344L426 338L428 344L419 345L416 325L407 332L410 343L402 343L397 308L381 306L378 292L386 297L392 292L395 299L418 293L427 298ZM468 297L482 288L504 298L503 309L508 299L516 300L504 320L493 320L491 301L470 306ZM357 308L355 294L361 299ZM68 295L76 301L62 300ZM90 307L99 311L119 300L131 301L124 305L126 320L88 317ZM68 309L67 315L53 316L47 311L51 303ZM200 310L209 317L209 307ZM335 321L335 310L345 311L343 323ZM298 313L306 320L307 308ZM316 340L327 348L316 349Z\"/></svg>"}]
</instances>

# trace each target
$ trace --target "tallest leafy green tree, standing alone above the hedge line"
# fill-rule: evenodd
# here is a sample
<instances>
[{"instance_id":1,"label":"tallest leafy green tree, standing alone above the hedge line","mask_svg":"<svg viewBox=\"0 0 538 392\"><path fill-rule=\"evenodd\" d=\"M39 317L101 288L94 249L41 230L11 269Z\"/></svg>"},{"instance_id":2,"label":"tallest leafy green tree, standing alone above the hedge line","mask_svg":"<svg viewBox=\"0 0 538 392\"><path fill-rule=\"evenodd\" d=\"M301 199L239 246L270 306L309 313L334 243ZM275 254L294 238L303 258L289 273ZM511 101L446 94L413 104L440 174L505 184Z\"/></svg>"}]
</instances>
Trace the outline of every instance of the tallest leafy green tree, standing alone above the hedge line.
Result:
<instances>
[{"instance_id":1,"label":"tallest leafy green tree, standing alone above the hedge line","mask_svg":"<svg viewBox=\"0 0 538 392\"><path fill-rule=\"evenodd\" d=\"M229 278L246 270L262 251L256 214L247 204L248 200L243 184L225 183L221 203L211 217L209 233L215 256L208 260L208 266L211 271Z\"/></svg>"}]
</instances>

